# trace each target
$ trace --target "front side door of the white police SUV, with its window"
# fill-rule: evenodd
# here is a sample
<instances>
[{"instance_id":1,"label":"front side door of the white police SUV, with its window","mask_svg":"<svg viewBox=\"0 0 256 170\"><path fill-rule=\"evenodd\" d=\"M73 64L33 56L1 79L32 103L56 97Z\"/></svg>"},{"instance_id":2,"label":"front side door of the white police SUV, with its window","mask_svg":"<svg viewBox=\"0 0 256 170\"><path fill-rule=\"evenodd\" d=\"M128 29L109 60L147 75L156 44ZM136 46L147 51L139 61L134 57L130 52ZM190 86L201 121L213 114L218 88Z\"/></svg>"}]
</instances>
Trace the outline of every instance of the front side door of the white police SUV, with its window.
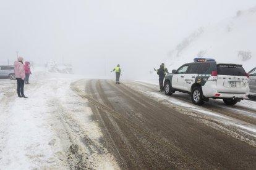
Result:
<instances>
[{"instance_id":1,"label":"front side door of the white police SUV, with its window","mask_svg":"<svg viewBox=\"0 0 256 170\"><path fill-rule=\"evenodd\" d=\"M187 68L189 68L189 64L182 65L176 73L173 75L172 81L171 81L171 86L174 89L179 89L179 90L184 90L184 75L187 72Z\"/></svg>"}]
</instances>

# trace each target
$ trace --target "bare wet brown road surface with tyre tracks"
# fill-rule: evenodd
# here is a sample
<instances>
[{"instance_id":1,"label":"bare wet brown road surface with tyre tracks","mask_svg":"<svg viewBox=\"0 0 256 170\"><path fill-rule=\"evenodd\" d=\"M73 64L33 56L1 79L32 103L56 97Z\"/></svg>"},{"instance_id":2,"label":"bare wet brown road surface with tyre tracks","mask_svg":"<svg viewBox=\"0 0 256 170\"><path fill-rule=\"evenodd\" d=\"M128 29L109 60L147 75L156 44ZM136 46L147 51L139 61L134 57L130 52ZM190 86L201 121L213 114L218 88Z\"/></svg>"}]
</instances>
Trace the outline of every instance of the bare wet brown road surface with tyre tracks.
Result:
<instances>
[{"instance_id":1,"label":"bare wet brown road surface with tyre tracks","mask_svg":"<svg viewBox=\"0 0 256 170\"><path fill-rule=\"evenodd\" d=\"M156 87L134 84L115 84L109 79L72 84L72 89L88 100L93 120L104 134L101 143L121 169L255 169L256 134L200 116L197 110L154 99L142 91L153 92ZM180 98L187 102L187 97ZM203 108L256 125L255 110L221 106L214 102ZM234 114L236 110L241 114Z\"/></svg>"}]
</instances>

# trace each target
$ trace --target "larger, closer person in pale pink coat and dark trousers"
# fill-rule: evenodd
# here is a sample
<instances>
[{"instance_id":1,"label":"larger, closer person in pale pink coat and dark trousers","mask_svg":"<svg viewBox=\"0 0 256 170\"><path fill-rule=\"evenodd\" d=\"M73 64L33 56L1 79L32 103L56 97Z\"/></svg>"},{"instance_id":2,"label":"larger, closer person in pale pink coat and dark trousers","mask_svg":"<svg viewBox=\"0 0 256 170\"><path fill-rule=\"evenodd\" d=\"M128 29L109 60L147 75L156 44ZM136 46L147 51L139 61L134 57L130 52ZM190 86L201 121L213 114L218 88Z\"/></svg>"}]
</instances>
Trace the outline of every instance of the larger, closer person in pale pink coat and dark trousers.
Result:
<instances>
[{"instance_id":1,"label":"larger, closer person in pale pink coat and dark trousers","mask_svg":"<svg viewBox=\"0 0 256 170\"><path fill-rule=\"evenodd\" d=\"M24 95L24 79L25 70L23 66L23 58L18 57L18 60L14 62L14 73L17 80L17 94L19 97L27 98Z\"/></svg>"}]
</instances>

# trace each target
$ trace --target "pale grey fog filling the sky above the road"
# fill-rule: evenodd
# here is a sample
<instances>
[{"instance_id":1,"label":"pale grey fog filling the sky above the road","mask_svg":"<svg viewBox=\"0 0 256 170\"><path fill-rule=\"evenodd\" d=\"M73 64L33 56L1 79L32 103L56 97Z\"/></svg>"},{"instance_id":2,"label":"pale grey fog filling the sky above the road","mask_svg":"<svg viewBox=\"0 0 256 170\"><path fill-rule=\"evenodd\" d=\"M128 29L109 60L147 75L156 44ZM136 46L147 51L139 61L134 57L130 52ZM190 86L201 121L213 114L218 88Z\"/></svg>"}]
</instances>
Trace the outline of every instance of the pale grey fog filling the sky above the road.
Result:
<instances>
[{"instance_id":1,"label":"pale grey fog filling the sky above the road","mask_svg":"<svg viewBox=\"0 0 256 170\"><path fill-rule=\"evenodd\" d=\"M255 6L255 0L1 1L0 63L16 51L35 65L71 63L95 78L121 65L122 78L139 79L200 26ZM166 63L168 64L168 63Z\"/></svg>"}]
</instances>

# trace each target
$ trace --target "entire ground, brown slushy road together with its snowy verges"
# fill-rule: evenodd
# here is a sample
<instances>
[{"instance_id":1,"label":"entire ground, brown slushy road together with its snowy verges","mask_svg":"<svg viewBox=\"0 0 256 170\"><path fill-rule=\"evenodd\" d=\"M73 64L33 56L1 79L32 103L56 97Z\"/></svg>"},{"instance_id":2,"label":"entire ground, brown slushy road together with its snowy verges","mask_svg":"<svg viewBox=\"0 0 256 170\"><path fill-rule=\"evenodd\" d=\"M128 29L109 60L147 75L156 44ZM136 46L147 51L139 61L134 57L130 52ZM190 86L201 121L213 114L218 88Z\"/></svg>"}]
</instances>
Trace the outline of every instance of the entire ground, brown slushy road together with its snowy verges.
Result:
<instances>
[{"instance_id":1,"label":"entire ground, brown slushy road together with its snowy verges","mask_svg":"<svg viewBox=\"0 0 256 170\"><path fill-rule=\"evenodd\" d=\"M0 169L254 169L256 105L157 92L142 81L38 71L0 80Z\"/></svg>"}]
</instances>

